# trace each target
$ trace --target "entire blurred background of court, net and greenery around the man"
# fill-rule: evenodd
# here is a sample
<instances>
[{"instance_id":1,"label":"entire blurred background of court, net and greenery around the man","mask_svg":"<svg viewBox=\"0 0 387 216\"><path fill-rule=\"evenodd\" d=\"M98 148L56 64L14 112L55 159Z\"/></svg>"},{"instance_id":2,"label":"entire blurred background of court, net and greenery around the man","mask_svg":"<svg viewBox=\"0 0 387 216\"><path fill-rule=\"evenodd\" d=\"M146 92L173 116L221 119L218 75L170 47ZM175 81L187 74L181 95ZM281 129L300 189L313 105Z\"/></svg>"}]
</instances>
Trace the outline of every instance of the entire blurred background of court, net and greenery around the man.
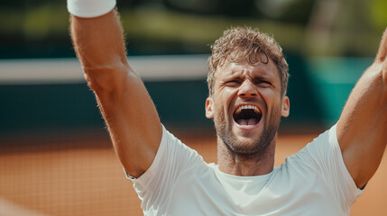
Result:
<instances>
[{"instance_id":1,"label":"entire blurred background of court, net and greenery around the man","mask_svg":"<svg viewBox=\"0 0 387 216\"><path fill-rule=\"evenodd\" d=\"M215 130L204 116L207 58L223 31L252 26L284 49L291 112L281 123L279 165L336 122L387 26L384 0L117 5L129 62L143 76L161 121L208 162L217 158ZM381 203L387 188L378 184L387 174L383 163L351 215L387 211ZM91 214L141 215L141 209L75 58L66 2L2 1L0 215Z\"/></svg>"}]
</instances>

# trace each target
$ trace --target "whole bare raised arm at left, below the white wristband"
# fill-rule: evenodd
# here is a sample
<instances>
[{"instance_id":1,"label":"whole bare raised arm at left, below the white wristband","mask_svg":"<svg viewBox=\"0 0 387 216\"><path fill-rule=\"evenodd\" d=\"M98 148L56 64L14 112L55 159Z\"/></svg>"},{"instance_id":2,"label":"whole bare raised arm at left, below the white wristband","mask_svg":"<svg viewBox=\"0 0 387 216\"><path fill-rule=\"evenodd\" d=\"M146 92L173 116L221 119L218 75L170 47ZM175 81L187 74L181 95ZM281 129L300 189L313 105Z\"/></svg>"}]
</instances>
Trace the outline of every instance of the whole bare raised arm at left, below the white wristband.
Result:
<instances>
[{"instance_id":1,"label":"whole bare raised arm at left, below the white wristband","mask_svg":"<svg viewBox=\"0 0 387 216\"><path fill-rule=\"evenodd\" d=\"M138 177L152 165L161 122L142 79L127 63L118 15L115 10L95 18L71 15L70 30L115 152L126 171Z\"/></svg>"}]
</instances>

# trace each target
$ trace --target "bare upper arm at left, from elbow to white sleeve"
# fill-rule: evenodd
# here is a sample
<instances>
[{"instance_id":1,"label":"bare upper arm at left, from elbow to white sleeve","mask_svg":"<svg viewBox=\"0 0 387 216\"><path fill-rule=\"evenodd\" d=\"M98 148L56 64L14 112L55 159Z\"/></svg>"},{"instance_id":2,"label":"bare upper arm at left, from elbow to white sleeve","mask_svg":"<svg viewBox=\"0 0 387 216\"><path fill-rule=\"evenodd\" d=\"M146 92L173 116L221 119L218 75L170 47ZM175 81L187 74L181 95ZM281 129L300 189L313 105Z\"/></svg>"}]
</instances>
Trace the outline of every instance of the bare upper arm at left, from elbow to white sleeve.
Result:
<instances>
[{"instance_id":1,"label":"bare upper arm at left, from elbow to white sleeve","mask_svg":"<svg viewBox=\"0 0 387 216\"><path fill-rule=\"evenodd\" d=\"M145 172L161 142L161 122L143 81L133 71L115 82L110 91L95 91L115 152L134 177Z\"/></svg>"}]
</instances>

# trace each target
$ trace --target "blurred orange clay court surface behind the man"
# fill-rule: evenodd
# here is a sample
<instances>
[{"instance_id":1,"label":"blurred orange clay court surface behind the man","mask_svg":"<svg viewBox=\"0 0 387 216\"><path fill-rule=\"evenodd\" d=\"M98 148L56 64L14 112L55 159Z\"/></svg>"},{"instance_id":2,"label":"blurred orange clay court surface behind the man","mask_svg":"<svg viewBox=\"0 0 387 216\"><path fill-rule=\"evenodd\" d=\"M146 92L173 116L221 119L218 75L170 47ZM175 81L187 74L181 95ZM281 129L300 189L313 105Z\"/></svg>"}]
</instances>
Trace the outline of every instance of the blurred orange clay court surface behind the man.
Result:
<instances>
[{"instance_id":1,"label":"blurred orange clay court surface behind the man","mask_svg":"<svg viewBox=\"0 0 387 216\"><path fill-rule=\"evenodd\" d=\"M173 131L173 130L172 130ZM177 132L207 162L215 162L216 139ZM317 133L281 135L275 165L297 152ZM387 159L383 158L352 216L387 212ZM12 137L0 145L0 215L143 215L132 183L124 177L104 132L54 137Z\"/></svg>"}]
</instances>

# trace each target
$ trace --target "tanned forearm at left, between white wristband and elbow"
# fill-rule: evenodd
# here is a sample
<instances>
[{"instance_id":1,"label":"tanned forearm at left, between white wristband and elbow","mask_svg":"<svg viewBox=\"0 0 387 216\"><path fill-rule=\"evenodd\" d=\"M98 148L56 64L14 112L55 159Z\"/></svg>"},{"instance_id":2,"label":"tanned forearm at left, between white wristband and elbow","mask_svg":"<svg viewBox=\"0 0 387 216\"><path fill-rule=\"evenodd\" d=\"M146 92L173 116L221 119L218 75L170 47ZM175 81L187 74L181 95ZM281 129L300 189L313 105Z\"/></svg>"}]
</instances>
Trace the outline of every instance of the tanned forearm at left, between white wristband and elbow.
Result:
<instances>
[{"instance_id":1,"label":"tanned forearm at left, between white wristband and elbow","mask_svg":"<svg viewBox=\"0 0 387 216\"><path fill-rule=\"evenodd\" d=\"M124 76L133 72L126 61L123 31L115 10L95 18L71 15L70 31L88 85L97 94L101 88L120 87Z\"/></svg>"}]
</instances>

